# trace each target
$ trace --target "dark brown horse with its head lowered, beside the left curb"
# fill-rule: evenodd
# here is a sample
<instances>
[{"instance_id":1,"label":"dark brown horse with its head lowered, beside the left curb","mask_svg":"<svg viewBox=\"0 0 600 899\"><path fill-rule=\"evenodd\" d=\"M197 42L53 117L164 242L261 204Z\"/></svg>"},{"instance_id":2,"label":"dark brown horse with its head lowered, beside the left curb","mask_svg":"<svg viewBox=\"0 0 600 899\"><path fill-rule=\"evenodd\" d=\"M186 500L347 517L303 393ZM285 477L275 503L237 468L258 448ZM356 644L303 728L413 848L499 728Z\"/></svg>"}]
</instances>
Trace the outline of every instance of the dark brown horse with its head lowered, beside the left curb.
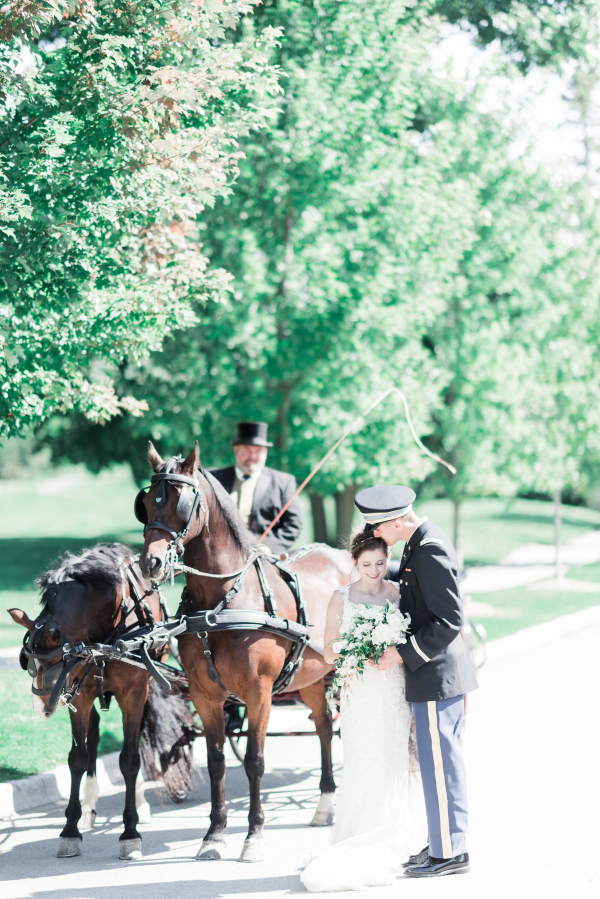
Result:
<instances>
[{"instance_id":1,"label":"dark brown horse with its head lowered, beside the left curb","mask_svg":"<svg viewBox=\"0 0 600 899\"><path fill-rule=\"evenodd\" d=\"M80 855L82 836L78 824L83 829L94 826L94 805L99 793L96 756L100 717L94 708L98 695L101 708L108 708L112 696L121 708L123 746L119 765L125 779L125 808L119 858L139 859L141 836L137 825L140 819L147 823L150 814L143 781L138 780L140 727L143 724L141 743L148 779L157 779L162 773L169 795L175 801L182 801L190 789L189 744L195 736L189 702L181 689L173 690L165 699L159 697L160 690L154 681L148 691L145 668L119 661L94 662L85 657L67 660L65 652L78 643L81 646L106 644L125 628L135 626L140 617L147 618L149 625L151 619L147 612L160 621L164 612L160 596L154 589L148 590L135 556L129 547L119 543L98 545L80 556L67 554L61 564L42 574L36 584L41 591L42 606L37 619L31 621L20 609L8 611L13 621L28 630L20 661L33 677L33 708L44 718L52 716L59 705L67 705L69 709L73 737L68 753L71 790L67 823L58 837L57 856L64 859ZM161 760L160 771L152 763L157 756ZM85 772L82 808L79 792Z\"/></svg>"}]
</instances>

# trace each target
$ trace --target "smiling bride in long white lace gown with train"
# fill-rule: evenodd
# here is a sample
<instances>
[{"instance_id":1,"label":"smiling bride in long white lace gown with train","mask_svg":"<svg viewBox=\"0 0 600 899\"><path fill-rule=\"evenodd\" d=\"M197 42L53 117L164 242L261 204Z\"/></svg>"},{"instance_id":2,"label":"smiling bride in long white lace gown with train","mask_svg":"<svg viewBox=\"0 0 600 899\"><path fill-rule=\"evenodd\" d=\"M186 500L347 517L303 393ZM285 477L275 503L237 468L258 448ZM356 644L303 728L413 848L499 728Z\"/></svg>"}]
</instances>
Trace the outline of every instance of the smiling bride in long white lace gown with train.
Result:
<instances>
[{"instance_id":1,"label":"smiling bride in long white lace gown with train","mask_svg":"<svg viewBox=\"0 0 600 899\"><path fill-rule=\"evenodd\" d=\"M325 659L330 663L338 657L336 641L354 605L393 602L398 607L399 603L398 585L384 580L389 562L384 541L361 531L350 551L360 579L340 587L329 602ZM363 679L342 693L344 772L336 824L327 848L300 874L310 893L391 884L402 872L409 850L418 845L421 834L415 841L409 806L422 805L423 797L420 783L411 782L409 788L408 782L412 708L405 699L404 678L401 664L381 671L370 663Z\"/></svg>"}]
</instances>

